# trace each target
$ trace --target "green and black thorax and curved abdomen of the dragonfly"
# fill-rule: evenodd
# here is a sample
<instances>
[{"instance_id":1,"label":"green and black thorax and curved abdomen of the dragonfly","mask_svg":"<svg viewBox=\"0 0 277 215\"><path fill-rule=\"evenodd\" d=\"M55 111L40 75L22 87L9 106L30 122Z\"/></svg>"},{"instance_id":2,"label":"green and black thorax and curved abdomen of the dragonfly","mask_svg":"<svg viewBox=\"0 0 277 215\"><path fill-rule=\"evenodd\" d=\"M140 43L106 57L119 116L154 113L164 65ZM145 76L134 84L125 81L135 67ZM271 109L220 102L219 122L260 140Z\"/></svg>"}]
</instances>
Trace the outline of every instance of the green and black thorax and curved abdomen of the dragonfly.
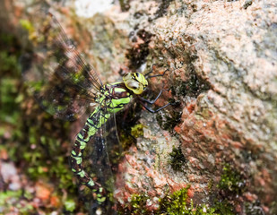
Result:
<instances>
[{"instance_id":1,"label":"green and black thorax and curved abdomen of the dragonfly","mask_svg":"<svg viewBox=\"0 0 277 215\"><path fill-rule=\"evenodd\" d=\"M82 166L83 152L87 144L95 144L95 142L91 142L91 139L96 135L100 127L107 122L108 118L125 107L131 99L132 95L122 83L106 85L102 97L99 98L100 106L96 107L80 133L76 136L70 158L72 171L80 182L91 188L93 192L101 193L102 187L99 183L93 181L91 176L84 171ZM102 199L102 201L104 200Z\"/></svg>"}]
</instances>

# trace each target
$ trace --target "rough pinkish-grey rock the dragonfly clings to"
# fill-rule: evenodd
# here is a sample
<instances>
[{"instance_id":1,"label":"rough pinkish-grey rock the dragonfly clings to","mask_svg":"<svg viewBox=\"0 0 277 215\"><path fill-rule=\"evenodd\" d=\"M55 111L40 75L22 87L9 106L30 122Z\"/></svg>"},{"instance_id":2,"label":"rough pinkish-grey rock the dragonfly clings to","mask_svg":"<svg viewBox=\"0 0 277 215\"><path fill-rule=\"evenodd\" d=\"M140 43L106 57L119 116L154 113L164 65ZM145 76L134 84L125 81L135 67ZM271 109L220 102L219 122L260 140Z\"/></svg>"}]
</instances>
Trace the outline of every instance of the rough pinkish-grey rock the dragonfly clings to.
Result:
<instances>
[{"instance_id":1,"label":"rough pinkish-grey rock the dragonfly clings to","mask_svg":"<svg viewBox=\"0 0 277 215\"><path fill-rule=\"evenodd\" d=\"M23 11L26 4L14 2L16 11ZM196 203L212 203L215 193L221 193L221 200L232 202L239 214L246 214L246 202L275 214L276 1L134 0L128 7L122 13L116 4L102 15L78 18L74 29L86 34L73 30L74 39L108 82L118 77L108 71L118 72L124 65L169 68L172 95L181 101L176 111L183 108L183 114L175 137L143 112L141 123L148 127L121 164L126 185L117 190L119 202L126 203L132 193L147 193L149 208L155 209L155 197L190 184ZM56 13L65 11L58 8ZM126 60L135 52L139 54ZM178 145L187 160L185 172L169 166L169 152ZM242 178L241 193L228 196L217 187L227 163Z\"/></svg>"}]
</instances>

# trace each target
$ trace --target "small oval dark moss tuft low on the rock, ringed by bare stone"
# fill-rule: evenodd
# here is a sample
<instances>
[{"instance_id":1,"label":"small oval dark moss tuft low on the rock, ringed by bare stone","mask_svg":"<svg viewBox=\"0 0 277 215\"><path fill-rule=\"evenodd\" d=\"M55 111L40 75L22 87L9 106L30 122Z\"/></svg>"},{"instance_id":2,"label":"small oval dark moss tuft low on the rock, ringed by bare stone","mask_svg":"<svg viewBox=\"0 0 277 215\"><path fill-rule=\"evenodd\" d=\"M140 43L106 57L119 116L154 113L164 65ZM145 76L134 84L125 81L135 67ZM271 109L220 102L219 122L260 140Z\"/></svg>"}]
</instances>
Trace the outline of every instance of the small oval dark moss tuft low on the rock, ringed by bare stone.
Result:
<instances>
[{"instance_id":1,"label":"small oval dark moss tuft low on the rock, ringed by bare stone","mask_svg":"<svg viewBox=\"0 0 277 215\"><path fill-rule=\"evenodd\" d=\"M169 153L170 159L169 164L175 171L184 171L186 165L186 159L182 153L181 148L173 148L172 152Z\"/></svg>"}]
</instances>

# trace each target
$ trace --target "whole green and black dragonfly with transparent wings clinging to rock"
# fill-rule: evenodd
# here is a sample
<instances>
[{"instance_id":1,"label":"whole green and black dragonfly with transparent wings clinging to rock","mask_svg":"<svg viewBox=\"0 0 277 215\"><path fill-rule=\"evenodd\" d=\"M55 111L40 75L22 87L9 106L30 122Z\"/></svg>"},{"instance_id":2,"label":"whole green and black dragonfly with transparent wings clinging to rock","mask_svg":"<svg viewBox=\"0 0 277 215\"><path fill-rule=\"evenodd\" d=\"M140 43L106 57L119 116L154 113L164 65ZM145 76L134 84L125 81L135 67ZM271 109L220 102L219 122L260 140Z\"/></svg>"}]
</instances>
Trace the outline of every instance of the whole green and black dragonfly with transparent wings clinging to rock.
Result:
<instances>
[{"instance_id":1,"label":"whole green and black dragonfly with transparent wings clinging to rock","mask_svg":"<svg viewBox=\"0 0 277 215\"><path fill-rule=\"evenodd\" d=\"M75 120L88 106L95 106L76 135L69 160L74 175L93 193L91 214L116 214L112 209L114 203L110 203L107 197L108 188L104 185L107 176L111 175L108 129L115 122L115 114L134 98L151 113L172 105L168 103L156 110L146 105L153 105L162 90L153 100L140 96L148 86L147 79L162 76L166 71L152 76L152 71L145 75L126 73L123 82L103 84L94 67L86 62L74 42L67 38L56 17L52 13L45 16L32 37L34 51L22 57L22 76L39 105L58 118ZM89 159L92 161L88 162ZM103 180L100 179L102 177Z\"/></svg>"}]
</instances>

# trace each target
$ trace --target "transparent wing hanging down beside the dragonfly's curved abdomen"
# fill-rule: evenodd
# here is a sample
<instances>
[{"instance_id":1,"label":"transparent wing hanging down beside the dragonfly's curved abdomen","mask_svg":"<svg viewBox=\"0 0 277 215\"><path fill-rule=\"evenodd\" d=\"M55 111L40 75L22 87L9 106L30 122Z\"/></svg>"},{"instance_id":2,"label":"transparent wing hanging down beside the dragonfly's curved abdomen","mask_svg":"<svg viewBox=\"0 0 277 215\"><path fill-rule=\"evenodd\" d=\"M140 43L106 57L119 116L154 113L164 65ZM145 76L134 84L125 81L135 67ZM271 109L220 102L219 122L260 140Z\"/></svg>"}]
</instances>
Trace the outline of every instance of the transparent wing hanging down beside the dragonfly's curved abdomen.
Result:
<instances>
[{"instance_id":1,"label":"transparent wing hanging down beside the dragonfly's curved abdomen","mask_svg":"<svg viewBox=\"0 0 277 215\"><path fill-rule=\"evenodd\" d=\"M106 99L107 100L107 99ZM82 196L86 196L88 207L91 214L97 214L96 211L102 214L117 214L116 204L113 194L117 189L115 184L117 176L117 164L120 159L118 152L119 142L117 141L117 129L115 124L115 115L108 113L107 107L103 106L99 111L100 122L103 117L110 116L107 123L102 125L97 133L91 137L90 142L83 152L82 167L93 178L94 181L100 183L105 189L106 202L97 202L93 198L87 199L86 192Z\"/></svg>"}]
</instances>

